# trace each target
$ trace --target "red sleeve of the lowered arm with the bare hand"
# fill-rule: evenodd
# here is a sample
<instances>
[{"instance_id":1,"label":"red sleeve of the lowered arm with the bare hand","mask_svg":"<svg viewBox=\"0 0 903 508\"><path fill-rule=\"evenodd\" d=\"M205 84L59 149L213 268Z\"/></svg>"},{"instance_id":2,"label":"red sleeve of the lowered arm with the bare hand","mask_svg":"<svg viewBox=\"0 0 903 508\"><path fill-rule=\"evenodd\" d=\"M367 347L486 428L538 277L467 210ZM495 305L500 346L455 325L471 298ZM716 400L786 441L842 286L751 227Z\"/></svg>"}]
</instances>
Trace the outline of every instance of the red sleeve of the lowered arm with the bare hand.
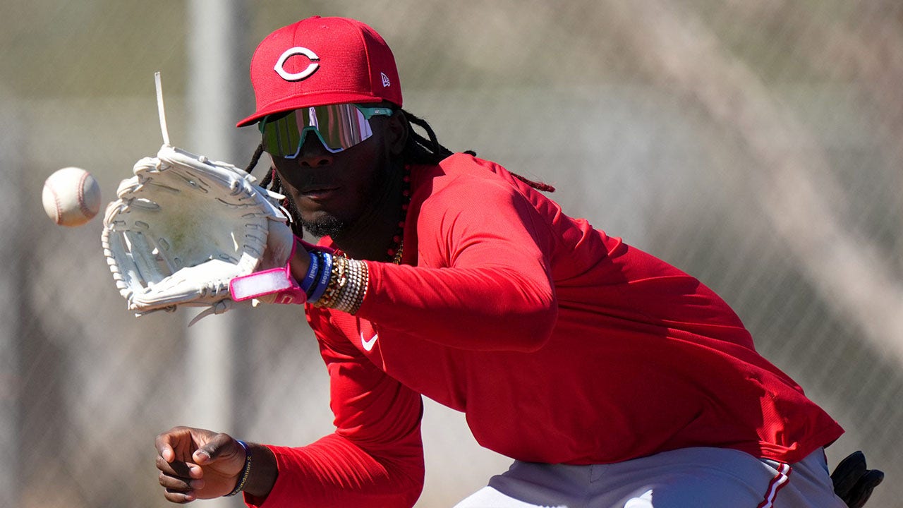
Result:
<instances>
[{"instance_id":1,"label":"red sleeve of the lowered arm with the bare hand","mask_svg":"<svg viewBox=\"0 0 903 508\"><path fill-rule=\"evenodd\" d=\"M413 506L424 485L420 396L364 358L347 340L317 327L330 374L335 433L306 447L268 446L279 475L251 507ZM326 332L324 334L324 331Z\"/></svg>"}]
</instances>

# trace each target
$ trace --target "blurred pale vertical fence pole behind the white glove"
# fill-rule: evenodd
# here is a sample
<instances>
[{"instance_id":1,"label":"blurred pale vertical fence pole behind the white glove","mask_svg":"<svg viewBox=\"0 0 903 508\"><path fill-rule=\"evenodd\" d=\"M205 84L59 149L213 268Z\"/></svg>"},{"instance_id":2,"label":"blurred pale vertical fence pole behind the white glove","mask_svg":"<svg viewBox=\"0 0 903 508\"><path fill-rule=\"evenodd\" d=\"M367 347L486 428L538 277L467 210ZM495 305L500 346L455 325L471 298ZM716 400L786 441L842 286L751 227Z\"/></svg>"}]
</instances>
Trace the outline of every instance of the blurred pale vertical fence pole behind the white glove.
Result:
<instances>
[{"instance_id":1,"label":"blurred pale vertical fence pole behind the white glove","mask_svg":"<svg viewBox=\"0 0 903 508\"><path fill-rule=\"evenodd\" d=\"M243 0L191 0L188 15L188 140L185 149L237 164L237 81L243 54ZM174 146L180 146L173 139ZM234 432L233 376L242 311L211 315L187 332L190 398L186 423L193 427ZM186 313L186 322L194 313ZM240 496L236 496L240 498ZM243 506L240 499L221 498L205 506ZM233 501L235 500L235 501Z\"/></svg>"}]
</instances>

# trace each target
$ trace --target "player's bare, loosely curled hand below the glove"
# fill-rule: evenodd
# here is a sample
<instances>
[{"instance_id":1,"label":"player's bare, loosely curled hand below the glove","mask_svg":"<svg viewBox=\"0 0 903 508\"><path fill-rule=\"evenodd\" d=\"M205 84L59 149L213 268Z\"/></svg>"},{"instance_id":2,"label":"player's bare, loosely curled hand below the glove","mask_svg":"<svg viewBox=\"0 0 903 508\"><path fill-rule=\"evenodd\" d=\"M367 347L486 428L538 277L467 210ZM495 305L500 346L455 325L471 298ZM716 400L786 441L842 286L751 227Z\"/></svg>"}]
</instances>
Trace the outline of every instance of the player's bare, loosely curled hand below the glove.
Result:
<instances>
[{"instance_id":1,"label":"player's bare, loosely curled hand below the glove","mask_svg":"<svg viewBox=\"0 0 903 508\"><path fill-rule=\"evenodd\" d=\"M163 497L172 503L229 494L245 466L245 448L234 438L202 428L171 428L156 447Z\"/></svg>"}]
</instances>

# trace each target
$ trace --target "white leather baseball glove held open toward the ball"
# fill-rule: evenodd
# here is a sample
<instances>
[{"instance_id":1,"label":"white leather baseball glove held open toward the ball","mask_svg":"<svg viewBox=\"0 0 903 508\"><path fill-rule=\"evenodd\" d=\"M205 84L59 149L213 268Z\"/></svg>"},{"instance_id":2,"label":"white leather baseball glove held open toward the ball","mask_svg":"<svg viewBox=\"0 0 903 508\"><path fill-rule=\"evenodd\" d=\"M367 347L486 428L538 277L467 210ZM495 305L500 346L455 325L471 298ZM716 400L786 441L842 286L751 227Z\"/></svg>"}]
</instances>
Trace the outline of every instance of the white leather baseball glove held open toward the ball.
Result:
<instances>
[{"instance_id":1,"label":"white leather baseball glove held open toward the ball","mask_svg":"<svg viewBox=\"0 0 903 508\"><path fill-rule=\"evenodd\" d=\"M137 315L177 306L220 314L235 305L231 279L285 266L294 240L283 196L252 175L169 145L134 173L107 206L101 243Z\"/></svg>"}]
</instances>

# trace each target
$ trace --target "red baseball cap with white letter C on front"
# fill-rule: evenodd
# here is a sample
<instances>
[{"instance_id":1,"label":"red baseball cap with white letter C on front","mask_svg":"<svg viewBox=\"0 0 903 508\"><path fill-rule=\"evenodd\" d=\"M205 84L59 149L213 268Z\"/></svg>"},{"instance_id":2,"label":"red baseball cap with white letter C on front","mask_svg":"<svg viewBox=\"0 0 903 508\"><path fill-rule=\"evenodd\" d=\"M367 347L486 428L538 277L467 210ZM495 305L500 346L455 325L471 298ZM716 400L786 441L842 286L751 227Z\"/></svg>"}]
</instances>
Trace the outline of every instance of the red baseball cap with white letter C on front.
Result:
<instances>
[{"instance_id":1,"label":"red baseball cap with white letter C on front","mask_svg":"<svg viewBox=\"0 0 903 508\"><path fill-rule=\"evenodd\" d=\"M387 100L402 106L395 56L367 24L313 16L270 33L251 59L256 111L266 115L310 106Z\"/></svg>"}]
</instances>

